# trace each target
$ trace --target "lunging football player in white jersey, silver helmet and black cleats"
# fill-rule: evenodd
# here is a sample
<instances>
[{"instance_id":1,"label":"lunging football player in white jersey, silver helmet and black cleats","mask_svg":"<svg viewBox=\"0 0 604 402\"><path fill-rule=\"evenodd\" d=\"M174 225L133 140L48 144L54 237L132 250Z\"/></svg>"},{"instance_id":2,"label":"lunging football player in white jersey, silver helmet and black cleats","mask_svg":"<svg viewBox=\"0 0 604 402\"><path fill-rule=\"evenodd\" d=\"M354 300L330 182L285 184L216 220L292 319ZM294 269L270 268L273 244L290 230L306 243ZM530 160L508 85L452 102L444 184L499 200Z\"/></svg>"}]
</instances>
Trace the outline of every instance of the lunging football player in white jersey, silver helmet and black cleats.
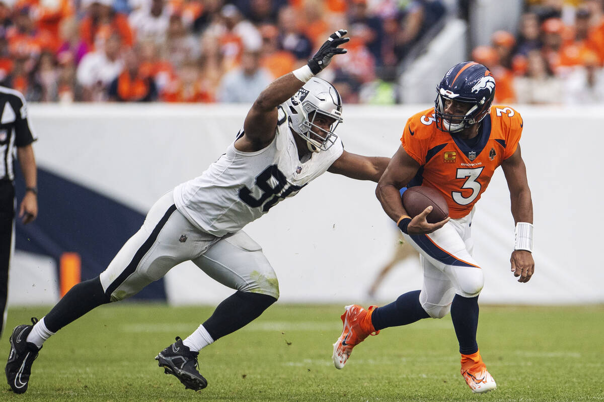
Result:
<instances>
[{"instance_id":1,"label":"lunging football player in white jersey, silver helmet and black cleats","mask_svg":"<svg viewBox=\"0 0 604 402\"><path fill-rule=\"evenodd\" d=\"M155 359L186 388L207 386L198 372L199 350L248 324L279 297L271 264L242 228L326 171L377 182L390 161L346 152L334 133L342 102L335 87L315 75L333 55L346 52L338 47L348 42L346 33L333 33L306 66L273 81L225 154L201 176L165 193L99 277L72 287L40 321L14 328L5 369L14 392L27 390L31 364L56 331L94 307L136 294L186 260L236 292Z\"/></svg>"}]
</instances>

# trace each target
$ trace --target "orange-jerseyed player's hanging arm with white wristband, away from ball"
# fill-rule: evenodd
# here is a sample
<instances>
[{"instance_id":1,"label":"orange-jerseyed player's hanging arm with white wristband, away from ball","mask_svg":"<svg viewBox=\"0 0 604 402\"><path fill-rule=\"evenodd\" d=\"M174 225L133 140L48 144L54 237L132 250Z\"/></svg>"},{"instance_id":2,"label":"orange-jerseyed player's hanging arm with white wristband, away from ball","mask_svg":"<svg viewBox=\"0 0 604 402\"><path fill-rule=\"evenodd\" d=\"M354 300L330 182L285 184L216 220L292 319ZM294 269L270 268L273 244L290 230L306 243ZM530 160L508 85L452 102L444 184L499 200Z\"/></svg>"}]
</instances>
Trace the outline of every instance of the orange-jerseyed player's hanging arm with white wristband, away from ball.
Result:
<instances>
[{"instance_id":1,"label":"orange-jerseyed player's hanging arm with white wristband, away from ball","mask_svg":"<svg viewBox=\"0 0 604 402\"><path fill-rule=\"evenodd\" d=\"M510 190L510 201L512 204L512 216L516 223L516 231L526 231L525 236L516 237L515 250L510 257L512 272L515 277L520 277L519 282L525 283L530 280L535 272L535 261L532 254L532 224L533 224L533 201L528 188L527 170L522 160L520 145L516 152L501 164L504 175L506 175L507 187Z\"/></svg>"}]
</instances>

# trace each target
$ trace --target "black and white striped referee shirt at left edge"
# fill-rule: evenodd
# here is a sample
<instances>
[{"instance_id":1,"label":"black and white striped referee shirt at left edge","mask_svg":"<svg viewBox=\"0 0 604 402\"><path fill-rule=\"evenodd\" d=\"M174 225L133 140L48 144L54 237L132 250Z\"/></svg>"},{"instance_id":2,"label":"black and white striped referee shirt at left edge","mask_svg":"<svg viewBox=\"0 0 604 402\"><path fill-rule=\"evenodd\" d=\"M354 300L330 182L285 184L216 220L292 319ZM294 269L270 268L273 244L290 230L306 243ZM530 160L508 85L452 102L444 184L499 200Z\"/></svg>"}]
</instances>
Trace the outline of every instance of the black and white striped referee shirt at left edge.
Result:
<instances>
[{"instance_id":1,"label":"black and white striped referee shirt at left edge","mask_svg":"<svg viewBox=\"0 0 604 402\"><path fill-rule=\"evenodd\" d=\"M0 86L0 180L13 180L18 146L37 140L27 121L27 104L21 92Z\"/></svg>"}]
</instances>

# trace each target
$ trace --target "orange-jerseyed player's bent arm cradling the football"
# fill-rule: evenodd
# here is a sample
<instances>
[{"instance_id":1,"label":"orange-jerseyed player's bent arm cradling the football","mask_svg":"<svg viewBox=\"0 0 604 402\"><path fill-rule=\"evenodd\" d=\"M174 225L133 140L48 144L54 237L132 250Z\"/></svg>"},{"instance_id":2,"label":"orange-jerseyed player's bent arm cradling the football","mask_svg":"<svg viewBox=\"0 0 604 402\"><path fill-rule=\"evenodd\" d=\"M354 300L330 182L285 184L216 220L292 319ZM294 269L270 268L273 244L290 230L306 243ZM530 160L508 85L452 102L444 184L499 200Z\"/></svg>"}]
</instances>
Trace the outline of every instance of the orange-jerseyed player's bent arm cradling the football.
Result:
<instances>
[{"instance_id":1,"label":"orange-jerseyed player's bent arm cradling the football","mask_svg":"<svg viewBox=\"0 0 604 402\"><path fill-rule=\"evenodd\" d=\"M402 219L405 219L405 217L409 219L410 217L405 207L403 207L399 190L411 181L419 168L419 163L405 152L403 146L399 146L376 187L377 199L379 199L386 214L394 222L397 222L401 230L408 234L432 233L442 228L449 221L449 218L447 218L435 224L428 223L426 216L432 211L432 207L428 207L410 221L406 221L406 226L401 225L401 222L405 222Z\"/></svg>"}]
</instances>

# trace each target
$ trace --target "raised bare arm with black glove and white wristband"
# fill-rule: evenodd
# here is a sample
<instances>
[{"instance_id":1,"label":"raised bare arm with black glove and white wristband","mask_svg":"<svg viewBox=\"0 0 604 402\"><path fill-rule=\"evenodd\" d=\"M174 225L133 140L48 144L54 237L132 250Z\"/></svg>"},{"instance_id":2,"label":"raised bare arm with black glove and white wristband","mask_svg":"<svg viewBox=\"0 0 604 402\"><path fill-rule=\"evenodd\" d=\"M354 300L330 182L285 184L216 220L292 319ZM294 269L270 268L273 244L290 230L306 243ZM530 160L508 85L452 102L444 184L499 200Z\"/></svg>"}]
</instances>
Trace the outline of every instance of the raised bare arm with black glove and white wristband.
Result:
<instances>
[{"instance_id":1,"label":"raised bare arm with black glove and white wristband","mask_svg":"<svg viewBox=\"0 0 604 402\"><path fill-rule=\"evenodd\" d=\"M277 106L294 96L304 83L326 68L334 55L346 52L338 46L350 40L344 37L347 32L338 30L331 34L306 66L277 78L260 93L245 118L245 134L238 145L245 150L262 149L272 141L277 127Z\"/></svg>"}]
</instances>

